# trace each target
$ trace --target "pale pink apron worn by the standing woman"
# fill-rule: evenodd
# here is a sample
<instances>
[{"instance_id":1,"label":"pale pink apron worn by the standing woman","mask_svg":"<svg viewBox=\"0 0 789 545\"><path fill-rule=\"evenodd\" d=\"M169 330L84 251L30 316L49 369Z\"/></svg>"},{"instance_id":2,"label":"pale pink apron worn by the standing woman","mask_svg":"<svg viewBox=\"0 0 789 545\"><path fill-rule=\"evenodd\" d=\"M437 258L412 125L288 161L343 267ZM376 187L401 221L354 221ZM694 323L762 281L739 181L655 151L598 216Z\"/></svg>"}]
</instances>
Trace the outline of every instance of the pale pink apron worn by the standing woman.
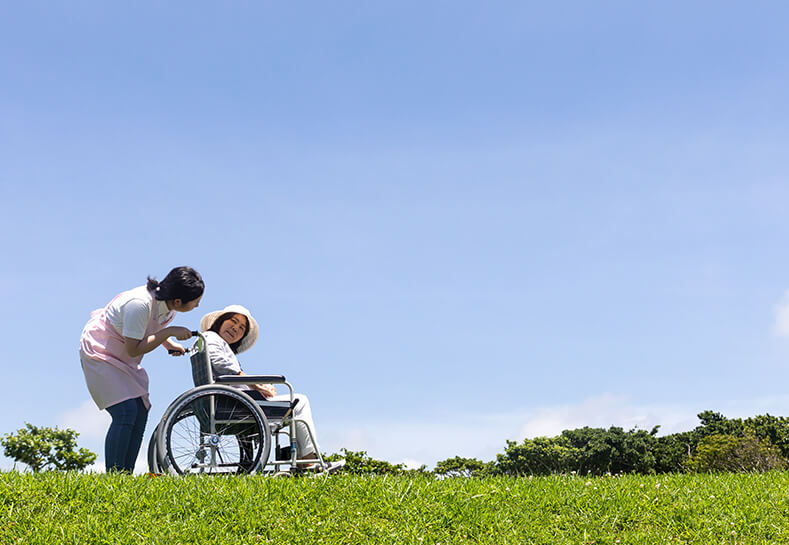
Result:
<instances>
[{"instance_id":1,"label":"pale pink apron worn by the standing woman","mask_svg":"<svg viewBox=\"0 0 789 545\"><path fill-rule=\"evenodd\" d=\"M163 329L173 319L170 315L160 324L156 320L156 303L152 300L145 337ZM88 391L99 409L136 397L141 397L146 408L151 408L148 373L140 366L142 356L132 358L126 353L126 341L107 319L106 308L94 310L82 330L80 361Z\"/></svg>"}]
</instances>

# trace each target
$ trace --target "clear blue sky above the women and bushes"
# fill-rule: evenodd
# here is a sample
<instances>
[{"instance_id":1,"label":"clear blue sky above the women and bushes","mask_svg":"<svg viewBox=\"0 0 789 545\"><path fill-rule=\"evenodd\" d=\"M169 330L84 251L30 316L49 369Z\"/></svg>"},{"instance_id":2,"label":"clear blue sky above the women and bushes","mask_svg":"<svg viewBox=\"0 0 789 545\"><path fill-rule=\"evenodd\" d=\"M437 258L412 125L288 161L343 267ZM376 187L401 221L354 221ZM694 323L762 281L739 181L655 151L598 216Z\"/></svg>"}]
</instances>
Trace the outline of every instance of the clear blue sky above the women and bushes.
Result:
<instances>
[{"instance_id":1,"label":"clear blue sky above the women and bushes","mask_svg":"<svg viewBox=\"0 0 789 545\"><path fill-rule=\"evenodd\" d=\"M184 264L327 452L789 414L787 11L6 3L0 433L103 457L79 333ZM150 432L189 372L144 366Z\"/></svg>"}]
</instances>

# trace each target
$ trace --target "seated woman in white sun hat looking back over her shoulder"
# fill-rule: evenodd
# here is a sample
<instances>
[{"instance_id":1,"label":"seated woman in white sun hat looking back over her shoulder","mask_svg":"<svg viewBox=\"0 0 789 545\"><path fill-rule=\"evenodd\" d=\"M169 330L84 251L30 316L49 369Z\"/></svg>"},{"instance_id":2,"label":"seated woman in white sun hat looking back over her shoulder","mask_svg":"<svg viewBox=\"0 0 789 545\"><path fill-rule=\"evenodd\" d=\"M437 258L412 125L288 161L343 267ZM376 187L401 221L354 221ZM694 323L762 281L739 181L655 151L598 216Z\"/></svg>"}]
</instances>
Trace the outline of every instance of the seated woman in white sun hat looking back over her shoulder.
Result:
<instances>
[{"instance_id":1,"label":"seated woman in white sun hat looking back over her shoulder","mask_svg":"<svg viewBox=\"0 0 789 545\"><path fill-rule=\"evenodd\" d=\"M259 330L257 322L246 308L241 305L230 305L223 310L206 314L200 320L200 330L206 340L206 350L215 379L221 375L246 375L241 370L236 354L249 350L255 344ZM276 388L271 384L245 384L237 388L246 390L246 393L253 398L263 397L270 401L290 400L288 394L278 395ZM293 410L293 416L300 420L296 422L295 437L299 458L317 459L318 445L313 444L310 439L311 431L317 443L310 402L303 394L295 394L295 398L299 400ZM344 462L331 462L327 464L327 470L335 471L343 465Z\"/></svg>"}]
</instances>

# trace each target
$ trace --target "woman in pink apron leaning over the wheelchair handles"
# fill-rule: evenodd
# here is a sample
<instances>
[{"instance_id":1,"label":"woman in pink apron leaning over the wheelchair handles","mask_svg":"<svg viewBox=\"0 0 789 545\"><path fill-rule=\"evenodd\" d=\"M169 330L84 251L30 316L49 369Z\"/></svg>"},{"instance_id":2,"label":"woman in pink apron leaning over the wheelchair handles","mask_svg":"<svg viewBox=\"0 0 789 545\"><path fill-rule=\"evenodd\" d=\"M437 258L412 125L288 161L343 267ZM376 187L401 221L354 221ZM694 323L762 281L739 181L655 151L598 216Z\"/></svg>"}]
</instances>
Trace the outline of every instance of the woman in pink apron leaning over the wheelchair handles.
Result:
<instances>
[{"instance_id":1,"label":"woman in pink apron leaning over the wheelchair handles","mask_svg":"<svg viewBox=\"0 0 789 545\"><path fill-rule=\"evenodd\" d=\"M176 267L161 282L124 291L103 309L94 310L82 330L79 356L93 401L107 409L112 424L104 442L107 472L134 470L151 403L143 355L161 345L185 353L170 337L191 337L185 327L168 326L175 312L197 308L205 285L190 267Z\"/></svg>"}]
</instances>

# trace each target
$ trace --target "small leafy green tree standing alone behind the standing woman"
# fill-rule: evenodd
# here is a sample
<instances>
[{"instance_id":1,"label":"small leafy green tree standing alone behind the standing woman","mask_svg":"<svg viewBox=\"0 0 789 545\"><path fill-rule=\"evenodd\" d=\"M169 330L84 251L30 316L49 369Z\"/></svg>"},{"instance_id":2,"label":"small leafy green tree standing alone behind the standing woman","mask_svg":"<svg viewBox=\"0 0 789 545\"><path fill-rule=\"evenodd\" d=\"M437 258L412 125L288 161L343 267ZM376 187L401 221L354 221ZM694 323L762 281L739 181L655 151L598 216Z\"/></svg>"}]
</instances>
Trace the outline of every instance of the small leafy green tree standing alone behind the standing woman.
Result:
<instances>
[{"instance_id":1,"label":"small leafy green tree standing alone behind the standing woman","mask_svg":"<svg viewBox=\"0 0 789 545\"><path fill-rule=\"evenodd\" d=\"M6 456L33 471L82 470L96 460L96 455L85 448L75 450L78 436L69 428L39 428L26 422L25 428L6 434L0 444Z\"/></svg>"}]
</instances>

